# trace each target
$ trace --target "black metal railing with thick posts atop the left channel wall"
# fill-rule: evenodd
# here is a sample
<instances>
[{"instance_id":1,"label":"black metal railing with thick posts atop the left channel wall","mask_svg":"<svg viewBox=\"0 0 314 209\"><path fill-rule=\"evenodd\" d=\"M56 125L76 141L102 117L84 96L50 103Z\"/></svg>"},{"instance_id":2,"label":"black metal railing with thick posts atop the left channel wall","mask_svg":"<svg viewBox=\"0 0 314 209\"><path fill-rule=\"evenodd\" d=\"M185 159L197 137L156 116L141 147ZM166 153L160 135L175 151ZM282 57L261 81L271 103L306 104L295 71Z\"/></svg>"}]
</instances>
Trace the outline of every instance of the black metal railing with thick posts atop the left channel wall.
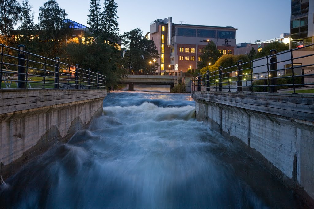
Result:
<instances>
[{"instance_id":1,"label":"black metal railing with thick posts atop the left channel wall","mask_svg":"<svg viewBox=\"0 0 314 209\"><path fill-rule=\"evenodd\" d=\"M0 89L106 89L106 76L0 44Z\"/></svg>"}]
</instances>

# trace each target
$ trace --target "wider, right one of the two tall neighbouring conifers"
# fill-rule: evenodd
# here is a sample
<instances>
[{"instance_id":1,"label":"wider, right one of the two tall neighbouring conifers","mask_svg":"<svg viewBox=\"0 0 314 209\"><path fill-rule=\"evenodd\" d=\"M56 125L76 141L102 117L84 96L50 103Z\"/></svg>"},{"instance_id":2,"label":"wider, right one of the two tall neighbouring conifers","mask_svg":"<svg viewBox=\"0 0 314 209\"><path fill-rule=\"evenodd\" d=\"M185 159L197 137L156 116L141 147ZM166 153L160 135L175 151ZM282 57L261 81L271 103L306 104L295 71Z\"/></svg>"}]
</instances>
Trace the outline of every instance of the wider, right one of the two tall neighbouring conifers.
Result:
<instances>
[{"instance_id":1,"label":"wider, right one of the two tall neighbouring conifers","mask_svg":"<svg viewBox=\"0 0 314 209\"><path fill-rule=\"evenodd\" d=\"M100 29L103 39L111 43L115 43L119 36L117 8L118 5L114 0L105 0L104 11L100 18Z\"/></svg>"}]
</instances>

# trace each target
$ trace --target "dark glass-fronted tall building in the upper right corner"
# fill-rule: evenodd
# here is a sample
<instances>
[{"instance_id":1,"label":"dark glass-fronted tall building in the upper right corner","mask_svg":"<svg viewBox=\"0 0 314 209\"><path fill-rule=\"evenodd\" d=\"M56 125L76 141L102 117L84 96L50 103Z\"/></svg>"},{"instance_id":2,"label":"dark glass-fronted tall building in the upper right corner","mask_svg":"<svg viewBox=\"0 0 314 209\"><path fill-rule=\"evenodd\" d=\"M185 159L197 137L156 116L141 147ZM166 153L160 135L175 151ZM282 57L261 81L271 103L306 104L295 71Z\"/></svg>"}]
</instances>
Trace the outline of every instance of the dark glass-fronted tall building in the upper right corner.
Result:
<instances>
[{"instance_id":1,"label":"dark glass-fronted tall building in the upper right corner","mask_svg":"<svg viewBox=\"0 0 314 209\"><path fill-rule=\"evenodd\" d=\"M291 1L291 43L302 46L314 44L314 0Z\"/></svg>"}]
</instances>

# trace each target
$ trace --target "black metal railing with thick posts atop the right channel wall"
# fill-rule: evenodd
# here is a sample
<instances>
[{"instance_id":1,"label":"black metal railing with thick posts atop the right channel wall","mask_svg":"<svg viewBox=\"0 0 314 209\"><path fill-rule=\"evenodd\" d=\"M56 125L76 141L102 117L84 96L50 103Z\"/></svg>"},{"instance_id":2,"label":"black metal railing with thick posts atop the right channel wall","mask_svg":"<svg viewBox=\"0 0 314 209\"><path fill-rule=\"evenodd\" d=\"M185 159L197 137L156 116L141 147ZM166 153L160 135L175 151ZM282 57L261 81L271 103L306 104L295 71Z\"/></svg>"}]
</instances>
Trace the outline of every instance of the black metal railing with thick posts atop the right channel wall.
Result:
<instances>
[{"instance_id":1,"label":"black metal railing with thick posts atop the right channel wall","mask_svg":"<svg viewBox=\"0 0 314 209\"><path fill-rule=\"evenodd\" d=\"M277 53L192 78L192 91L263 91L314 87L314 44Z\"/></svg>"}]
</instances>

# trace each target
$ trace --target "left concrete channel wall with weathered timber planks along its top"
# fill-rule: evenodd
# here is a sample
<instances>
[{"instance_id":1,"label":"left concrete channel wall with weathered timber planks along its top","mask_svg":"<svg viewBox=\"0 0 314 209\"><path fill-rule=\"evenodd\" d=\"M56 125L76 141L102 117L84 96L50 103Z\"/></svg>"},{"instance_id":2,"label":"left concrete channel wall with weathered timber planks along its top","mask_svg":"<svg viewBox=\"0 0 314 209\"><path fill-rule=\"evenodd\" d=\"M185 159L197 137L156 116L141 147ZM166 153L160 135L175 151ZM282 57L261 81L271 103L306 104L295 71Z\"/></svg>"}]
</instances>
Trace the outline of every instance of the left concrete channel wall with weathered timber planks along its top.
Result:
<instances>
[{"instance_id":1,"label":"left concrete channel wall with weathered timber planks along its top","mask_svg":"<svg viewBox=\"0 0 314 209\"><path fill-rule=\"evenodd\" d=\"M102 113L106 90L0 91L0 174L6 179Z\"/></svg>"}]
</instances>

